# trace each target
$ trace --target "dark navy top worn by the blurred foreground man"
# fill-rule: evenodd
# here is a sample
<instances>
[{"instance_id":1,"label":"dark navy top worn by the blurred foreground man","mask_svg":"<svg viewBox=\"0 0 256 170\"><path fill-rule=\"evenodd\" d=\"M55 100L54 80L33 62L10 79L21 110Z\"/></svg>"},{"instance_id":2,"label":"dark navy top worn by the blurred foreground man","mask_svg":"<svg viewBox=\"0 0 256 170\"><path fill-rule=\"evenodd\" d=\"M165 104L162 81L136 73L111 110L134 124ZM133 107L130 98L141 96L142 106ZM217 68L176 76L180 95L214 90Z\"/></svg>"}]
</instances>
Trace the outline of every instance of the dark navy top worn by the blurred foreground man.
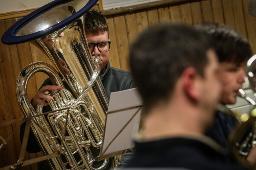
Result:
<instances>
[{"instance_id":1,"label":"dark navy top worn by the blurred foreground man","mask_svg":"<svg viewBox=\"0 0 256 170\"><path fill-rule=\"evenodd\" d=\"M236 163L226 163L223 159L228 151L211 139L203 138L206 140L177 137L135 142L134 155L126 168L246 169Z\"/></svg>"}]
</instances>

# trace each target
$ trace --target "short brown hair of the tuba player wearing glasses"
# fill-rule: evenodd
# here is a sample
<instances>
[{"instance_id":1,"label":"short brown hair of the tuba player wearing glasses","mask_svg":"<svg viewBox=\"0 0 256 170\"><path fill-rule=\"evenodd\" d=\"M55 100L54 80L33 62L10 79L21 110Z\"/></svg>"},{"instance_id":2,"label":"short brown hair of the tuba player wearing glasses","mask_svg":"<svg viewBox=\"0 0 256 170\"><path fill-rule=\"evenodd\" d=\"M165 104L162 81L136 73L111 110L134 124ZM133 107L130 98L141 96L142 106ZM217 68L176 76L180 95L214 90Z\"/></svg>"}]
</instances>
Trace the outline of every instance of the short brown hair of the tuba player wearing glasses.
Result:
<instances>
[{"instance_id":1,"label":"short brown hair of the tuba player wearing glasses","mask_svg":"<svg viewBox=\"0 0 256 170\"><path fill-rule=\"evenodd\" d=\"M101 12L92 9L85 14L85 31L93 34L107 31L109 35L109 27L107 19Z\"/></svg>"}]
</instances>

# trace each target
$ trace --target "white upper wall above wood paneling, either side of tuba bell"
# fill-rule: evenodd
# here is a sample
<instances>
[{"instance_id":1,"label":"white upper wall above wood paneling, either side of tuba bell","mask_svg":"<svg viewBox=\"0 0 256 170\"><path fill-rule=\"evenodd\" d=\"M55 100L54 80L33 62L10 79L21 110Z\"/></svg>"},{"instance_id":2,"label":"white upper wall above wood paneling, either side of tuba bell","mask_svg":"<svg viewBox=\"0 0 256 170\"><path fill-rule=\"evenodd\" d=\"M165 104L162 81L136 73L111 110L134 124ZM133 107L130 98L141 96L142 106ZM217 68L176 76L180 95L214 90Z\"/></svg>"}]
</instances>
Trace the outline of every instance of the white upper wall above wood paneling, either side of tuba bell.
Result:
<instances>
[{"instance_id":1,"label":"white upper wall above wood paneling, either side of tuba bell","mask_svg":"<svg viewBox=\"0 0 256 170\"><path fill-rule=\"evenodd\" d=\"M0 14L41 7L52 0L0 0ZM159 0L102 0L104 9L137 5Z\"/></svg>"}]
</instances>

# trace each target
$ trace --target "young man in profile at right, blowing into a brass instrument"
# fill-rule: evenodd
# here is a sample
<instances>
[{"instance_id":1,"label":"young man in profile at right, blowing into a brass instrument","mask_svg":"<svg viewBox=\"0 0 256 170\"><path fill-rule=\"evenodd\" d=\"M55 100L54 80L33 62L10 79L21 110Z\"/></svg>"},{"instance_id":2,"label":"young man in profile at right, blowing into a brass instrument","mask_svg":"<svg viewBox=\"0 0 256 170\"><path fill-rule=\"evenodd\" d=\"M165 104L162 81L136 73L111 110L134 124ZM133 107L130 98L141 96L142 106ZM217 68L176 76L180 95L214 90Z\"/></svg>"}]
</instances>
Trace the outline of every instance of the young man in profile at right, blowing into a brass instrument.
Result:
<instances>
[{"instance_id":1,"label":"young man in profile at right, blowing into a brass instrument","mask_svg":"<svg viewBox=\"0 0 256 170\"><path fill-rule=\"evenodd\" d=\"M195 26L197 30L207 33L215 44L215 51L220 62L219 78L221 81L220 102L224 105L235 104L238 90L245 82L245 65L251 57L251 47L241 34L232 28L214 23ZM212 86L212 88L215 88ZM222 112L216 113L215 123L206 132L222 146L227 146L228 136L238 120Z\"/></svg>"}]
</instances>

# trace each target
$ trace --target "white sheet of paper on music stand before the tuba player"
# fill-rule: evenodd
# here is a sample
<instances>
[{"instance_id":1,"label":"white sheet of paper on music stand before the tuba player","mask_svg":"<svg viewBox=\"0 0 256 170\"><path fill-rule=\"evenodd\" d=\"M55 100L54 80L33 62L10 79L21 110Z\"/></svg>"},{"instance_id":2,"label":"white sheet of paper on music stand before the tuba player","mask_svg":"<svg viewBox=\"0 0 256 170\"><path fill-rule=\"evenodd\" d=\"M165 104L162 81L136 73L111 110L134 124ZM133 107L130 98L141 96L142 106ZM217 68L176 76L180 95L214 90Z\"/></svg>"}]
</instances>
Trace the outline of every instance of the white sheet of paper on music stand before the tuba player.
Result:
<instances>
[{"instance_id":1,"label":"white sheet of paper on music stand before the tuba player","mask_svg":"<svg viewBox=\"0 0 256 170\"><path fill-rule=\"evenodd\" d=\"M108 112L141 105L142 101L138 94L137 88L114 92L110 95ZM107 114L104 141L102 146L103 151L105 151L109 143L139 109L140 108L137 107ZM141 110L134 116L124 130L118 135L118 137L116 137L116 139L110 144L109 148L103 155L108 155L110 153L115 153L134 147L132 139L134 134L138 132L140 117Z\"/></svg>"}]
</instances>

